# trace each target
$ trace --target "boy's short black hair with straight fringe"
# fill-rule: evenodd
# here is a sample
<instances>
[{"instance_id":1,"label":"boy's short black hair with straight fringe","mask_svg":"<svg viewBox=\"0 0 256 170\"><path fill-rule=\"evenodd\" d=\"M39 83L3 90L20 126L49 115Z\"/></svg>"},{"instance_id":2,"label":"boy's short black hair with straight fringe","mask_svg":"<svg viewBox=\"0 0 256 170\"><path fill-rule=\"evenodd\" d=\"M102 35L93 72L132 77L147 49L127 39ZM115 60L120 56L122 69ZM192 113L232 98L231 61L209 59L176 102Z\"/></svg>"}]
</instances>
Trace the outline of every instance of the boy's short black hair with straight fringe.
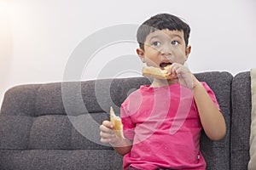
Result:
<instances>
[{"instance_id":1,"label":"boy's short black hair with straight fringe","mask_svg":"<svg viewBox=\"0 0 256 170\"><path fill-rule=\"evenodd\" d=\"M172 14L156 14L143 22L142 26L137 30L137 42L140 48L144 50L144 42L149 33L164 29L183 31L186 47L188 46L190 33L189 25Z\"/></svg>"}]
</instances>

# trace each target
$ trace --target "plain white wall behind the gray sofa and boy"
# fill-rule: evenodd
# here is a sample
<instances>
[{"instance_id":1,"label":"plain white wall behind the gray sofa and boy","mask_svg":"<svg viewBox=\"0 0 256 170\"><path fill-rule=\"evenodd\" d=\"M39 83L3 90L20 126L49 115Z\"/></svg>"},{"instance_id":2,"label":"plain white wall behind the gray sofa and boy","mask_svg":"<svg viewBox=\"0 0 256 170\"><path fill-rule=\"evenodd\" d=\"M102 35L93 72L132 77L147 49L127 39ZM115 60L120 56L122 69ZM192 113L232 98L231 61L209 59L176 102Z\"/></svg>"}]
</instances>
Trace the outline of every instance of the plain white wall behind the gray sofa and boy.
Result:
<instances>
[{"instance_id":1,"label":"plain white wall behind the gray sofa and boy","mask_svg":"<svg viewBox=\"0 0 256 170\"><path fill-rule=\"evenodd\" d=\"M15 85L62 81L68 59L86 37L163 12L191 26L191 71L249 71L256 67L255 9L253 0L0 0L0 105ZM81 79L104 77L102 67L124 55L136 58L135 48L136 42L118 42L99 49ZM124 65L135 65L135 58ZM141 66L121 76L136 76Z\"/></svg>"}]
</instances>

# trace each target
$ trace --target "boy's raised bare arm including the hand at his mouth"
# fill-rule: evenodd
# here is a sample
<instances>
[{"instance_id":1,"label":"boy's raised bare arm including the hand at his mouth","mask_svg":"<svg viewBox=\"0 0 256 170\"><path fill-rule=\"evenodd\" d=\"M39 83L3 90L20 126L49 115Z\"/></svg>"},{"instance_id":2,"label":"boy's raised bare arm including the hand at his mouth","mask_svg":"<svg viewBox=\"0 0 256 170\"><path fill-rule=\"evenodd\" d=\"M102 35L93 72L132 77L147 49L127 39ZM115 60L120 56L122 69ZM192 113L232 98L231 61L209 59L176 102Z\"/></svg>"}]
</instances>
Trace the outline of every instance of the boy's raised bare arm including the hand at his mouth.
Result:
<instances>
[{"instance_id":1,"label":"boy's raised bare arm including the hand at his mouth","mask_svg":"<svg viewBox=\"0 0 256 170\"><path fill-rule=\"evenodd\" d=\"M177 76L178 82L183 87L191 89L207 137L212 140L223 139L226 133L224 116L218 111L201 82L184 65L173 63L167 72Z\"/></svg>"}]
</instances>

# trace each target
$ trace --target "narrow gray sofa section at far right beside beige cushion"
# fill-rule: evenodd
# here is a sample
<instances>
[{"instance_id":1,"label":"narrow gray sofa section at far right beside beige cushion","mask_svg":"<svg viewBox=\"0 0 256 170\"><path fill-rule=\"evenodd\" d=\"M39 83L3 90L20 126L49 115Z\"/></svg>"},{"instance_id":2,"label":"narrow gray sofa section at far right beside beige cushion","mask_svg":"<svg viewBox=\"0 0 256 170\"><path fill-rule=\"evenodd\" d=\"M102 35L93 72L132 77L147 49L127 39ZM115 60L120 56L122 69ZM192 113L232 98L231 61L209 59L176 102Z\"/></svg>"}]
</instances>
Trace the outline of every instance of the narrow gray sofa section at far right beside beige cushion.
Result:
<instances>
[{"instance_id":1,"label":"narrow gray sofa section at far right beside beige cushion","mask_svg":"<svg viewBox=\"0 0 256 170\"><path fill-rule=\"evenodd\" d=\"M230 169L247 169L251 126L250 72L238 73L232 83Z\"/></svg>"}]
</instances>

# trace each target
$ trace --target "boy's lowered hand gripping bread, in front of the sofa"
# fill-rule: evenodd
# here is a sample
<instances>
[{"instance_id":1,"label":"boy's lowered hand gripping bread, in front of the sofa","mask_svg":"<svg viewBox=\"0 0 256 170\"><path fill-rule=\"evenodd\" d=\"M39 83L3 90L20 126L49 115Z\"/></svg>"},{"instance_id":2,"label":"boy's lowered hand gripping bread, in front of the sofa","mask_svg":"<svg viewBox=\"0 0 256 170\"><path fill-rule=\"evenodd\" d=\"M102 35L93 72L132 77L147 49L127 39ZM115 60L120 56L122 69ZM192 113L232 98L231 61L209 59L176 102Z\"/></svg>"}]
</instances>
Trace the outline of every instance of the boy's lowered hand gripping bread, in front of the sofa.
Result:
<instances>
[{"instance_id":1,"label":"boy's lowered hand gripping bread, in front of the sofa","mask_svg":"<svg viewBox=\"0 0 256 170\"><path fill-rule=\"evenodd\" d=\"M113 124L110 121L104 121L102 122L102 125L100 126L100 136L101 138L101 142L103 144L119 144L121 142L122 139L119 139L115 136L115 134L113 133Z\"/></svg>"}]
</instances>

